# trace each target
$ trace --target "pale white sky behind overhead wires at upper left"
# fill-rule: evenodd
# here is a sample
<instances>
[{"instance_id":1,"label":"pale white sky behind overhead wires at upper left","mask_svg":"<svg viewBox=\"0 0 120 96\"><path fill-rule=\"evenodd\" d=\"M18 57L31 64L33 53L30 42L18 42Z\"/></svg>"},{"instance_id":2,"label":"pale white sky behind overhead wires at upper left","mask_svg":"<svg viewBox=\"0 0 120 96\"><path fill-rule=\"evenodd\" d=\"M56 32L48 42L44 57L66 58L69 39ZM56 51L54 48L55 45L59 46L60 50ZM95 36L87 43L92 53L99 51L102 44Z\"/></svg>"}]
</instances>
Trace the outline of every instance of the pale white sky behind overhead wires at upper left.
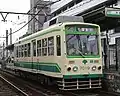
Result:
<instances>
[{"instance_id":1,"label":"pale white sky behind overhead wires at upper left","mask_svg":"<svg viewBox=\"0 0 120 96\"><path fill-rule=\"evenodd\" d=\"M27 13L29 9L30 0L0 0L0 11ZM4 13L3 15L5 16L6 14ZM2 16L0 15L0 37L5 36L6 30L10 32L10 28L12 28L13 32L21 28L25 22L27 23L28 16L8 14L6 20L7 22L3 22ZM19 36L22 36L26 32L27 26L19 32L13 34L13 43L17 40L17 38L19 38ZM5 39L0 38L0 45L3 43L3 41L5 41Z\"/></svg>"}]
</instances>

